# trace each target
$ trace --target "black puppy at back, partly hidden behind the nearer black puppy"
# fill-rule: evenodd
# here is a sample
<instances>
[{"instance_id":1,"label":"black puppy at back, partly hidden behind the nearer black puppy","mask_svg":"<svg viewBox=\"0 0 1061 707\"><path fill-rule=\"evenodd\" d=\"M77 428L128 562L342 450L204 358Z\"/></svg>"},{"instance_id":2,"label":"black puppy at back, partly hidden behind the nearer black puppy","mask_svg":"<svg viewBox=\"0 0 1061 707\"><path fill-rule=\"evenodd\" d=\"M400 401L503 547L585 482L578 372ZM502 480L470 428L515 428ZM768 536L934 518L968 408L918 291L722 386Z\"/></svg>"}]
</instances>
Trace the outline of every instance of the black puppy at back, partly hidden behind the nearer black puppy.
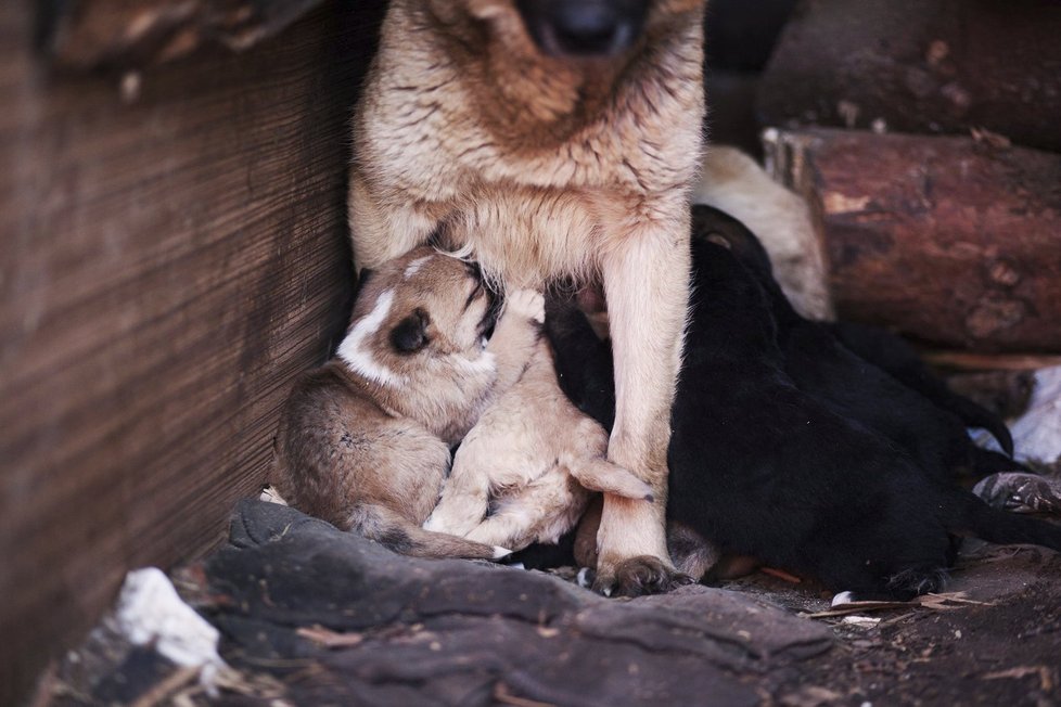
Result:
<instances>
[{"instance_id":1,"label":"black puppy at back, partly hidden behind the nearer black puppy","mask_svg":"<svg viewBox=\"0 0 1061 707\"><path fill-rule=\"evenodd\" d=\"M905 342L883 330L800 316L774 280L766 249L743 223L716 208L695 206L693 233L729 248L756 278L777 323L784 372L797 388L884 435L942 479L1022 468L972 442L967 425L986 427L1010 452L1013 445L1001 420L950 393ZM848 342L859 350L852 351Z\"/></svg>"}]
</instances>

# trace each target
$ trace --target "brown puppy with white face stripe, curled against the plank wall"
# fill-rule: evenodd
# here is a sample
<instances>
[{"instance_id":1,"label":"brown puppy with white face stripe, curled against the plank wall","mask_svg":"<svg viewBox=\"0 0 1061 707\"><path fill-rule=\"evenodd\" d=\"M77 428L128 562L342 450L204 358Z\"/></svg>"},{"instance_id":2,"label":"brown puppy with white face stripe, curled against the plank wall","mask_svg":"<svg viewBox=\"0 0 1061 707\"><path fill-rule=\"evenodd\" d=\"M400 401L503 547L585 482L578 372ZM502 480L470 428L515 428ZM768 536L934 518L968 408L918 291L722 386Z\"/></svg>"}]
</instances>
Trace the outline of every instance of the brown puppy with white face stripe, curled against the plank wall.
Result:
<instances>
[{"instance_id":1,"label":"brown puppy with white face stripe, curled against the plank wall","mask_svg":"<svg viewBox=\"0 0 1061 707\"><path fill-rule=\"evenodd\" d=\"M516 301L521 301L516 298ZM476 269L418 248L362 284L334 359L307 373L281 412L278 491L291 505L425 557L498 558L503 548L430 532L459 441L523 372L532 312L496 316Z\"/></svg>"}]
</instances>

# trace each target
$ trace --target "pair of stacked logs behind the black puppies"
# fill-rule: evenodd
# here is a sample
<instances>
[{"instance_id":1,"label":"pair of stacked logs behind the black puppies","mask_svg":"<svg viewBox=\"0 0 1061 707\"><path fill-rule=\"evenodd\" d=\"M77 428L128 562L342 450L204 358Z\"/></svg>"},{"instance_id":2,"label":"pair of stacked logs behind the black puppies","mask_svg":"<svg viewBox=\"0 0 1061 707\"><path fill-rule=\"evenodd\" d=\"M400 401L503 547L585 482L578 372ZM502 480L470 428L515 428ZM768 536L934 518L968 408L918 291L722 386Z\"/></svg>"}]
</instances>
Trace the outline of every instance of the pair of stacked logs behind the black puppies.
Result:
<instances>
[{"instance_id":1,"label":"pair of stacked logs behind the black puppies","mask_svg":"<svg viewBox=\"0 0 1061 707\"><path fill-rule=\"evenodd\" d=\"M1058 37L1056 2L796 4L755 119L811 206L840 318L948 360L1061 354Z\"/></svg>"}]
</instances>

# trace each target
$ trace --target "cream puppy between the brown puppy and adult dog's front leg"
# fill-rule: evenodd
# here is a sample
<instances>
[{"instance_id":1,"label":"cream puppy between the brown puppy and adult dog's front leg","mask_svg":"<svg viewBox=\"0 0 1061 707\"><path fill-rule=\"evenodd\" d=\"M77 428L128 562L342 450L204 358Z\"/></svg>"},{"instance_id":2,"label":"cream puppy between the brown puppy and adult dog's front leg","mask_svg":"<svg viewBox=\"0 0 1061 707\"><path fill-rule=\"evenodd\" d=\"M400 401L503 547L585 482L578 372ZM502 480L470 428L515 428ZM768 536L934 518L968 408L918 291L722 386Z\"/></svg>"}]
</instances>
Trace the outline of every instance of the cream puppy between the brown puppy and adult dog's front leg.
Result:
<instances>
[{"instance_id":1,"label":"cream puppy between the brown puppy and adult dog's front leg","mask_svg":"<svg viewBox=\"0 0 1061 707\"><path fill-rule=\"evenodd\" d=\"M540 295L520 291L510 299L544 322ZM608 433L560 389L545 338L520 380L499 393L457 450L424 528L516 551L555 543L578 522L591 490L653 500L648 484L604 459Z\"/></svg>"}]
</instances>

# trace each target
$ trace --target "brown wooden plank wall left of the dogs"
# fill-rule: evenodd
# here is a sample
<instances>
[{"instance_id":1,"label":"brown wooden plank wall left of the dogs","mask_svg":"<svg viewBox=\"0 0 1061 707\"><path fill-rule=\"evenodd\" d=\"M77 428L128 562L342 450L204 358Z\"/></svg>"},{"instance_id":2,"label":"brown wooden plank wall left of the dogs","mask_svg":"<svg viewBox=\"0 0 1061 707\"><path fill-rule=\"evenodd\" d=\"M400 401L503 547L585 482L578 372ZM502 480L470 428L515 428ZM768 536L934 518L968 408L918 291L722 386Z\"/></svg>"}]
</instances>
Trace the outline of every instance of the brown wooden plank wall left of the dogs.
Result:
<instances>
[{"instance_id":1,"label":"brown wooden plank wall left of the dogs","mask_svg":"<svg viewBox=\"0 0 1061 707\"><path fill-rule=\"evenodd\" d=\"M49 66L35 7L0 3L0 704L261 483L289 381L345 324L382 2L125 76Z\"/></svg>"}]
</instances>

